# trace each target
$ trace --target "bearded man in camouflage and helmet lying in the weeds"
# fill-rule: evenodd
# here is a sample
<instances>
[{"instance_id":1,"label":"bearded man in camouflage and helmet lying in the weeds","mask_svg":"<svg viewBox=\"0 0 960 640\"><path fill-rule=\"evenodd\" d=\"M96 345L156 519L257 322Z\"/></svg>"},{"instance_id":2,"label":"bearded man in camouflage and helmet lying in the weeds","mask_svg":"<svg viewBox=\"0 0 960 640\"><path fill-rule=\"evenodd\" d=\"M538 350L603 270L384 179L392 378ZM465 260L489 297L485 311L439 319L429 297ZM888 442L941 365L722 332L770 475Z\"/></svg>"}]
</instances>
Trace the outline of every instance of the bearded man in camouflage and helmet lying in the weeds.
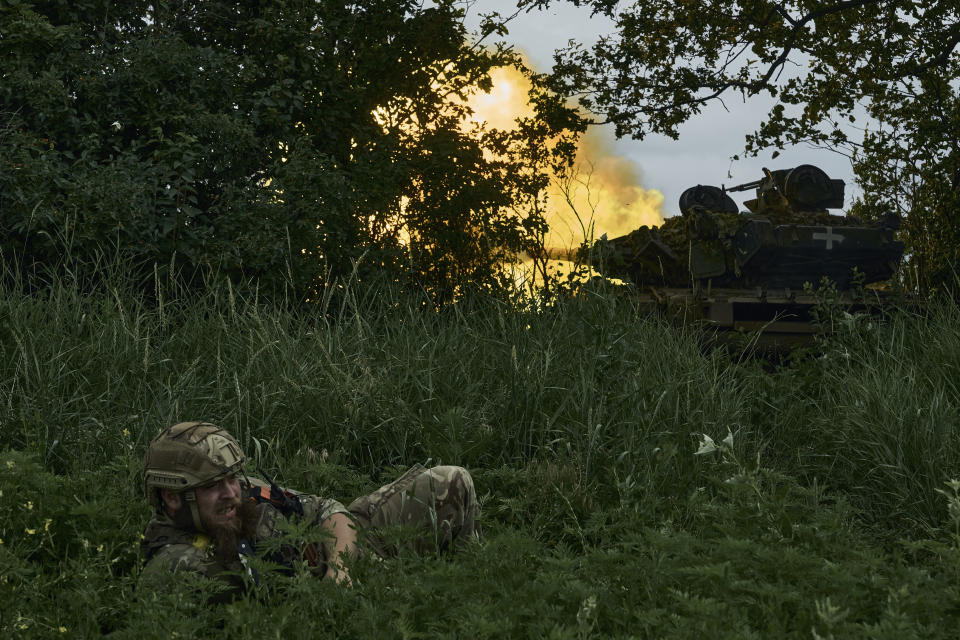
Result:
<instances>
[{"instance_id":1,"label":"bearded man in camouflage and helmet lying in the weeds","mask_svg":"<svg viewBox=\"0 0 960 640\"><path fill-rule=\"evenodd\" d=\"M140 544L141 579L170 571L219 576L232 585L225 594L232 598L244 574L259 581L248 557L260 547L281 567L305 563L314 574L349 585L344 559L395 552L382 535L393 525L415 531L410 542L421 553L451 550L454 541L477 537L473 479L461 467L415 465L344 507L247 477L244 460L233 436L205 422L174 425L150 443L144 485L155 514ZM280 544L289 529L285 522L319 528L312 537L322 541Z\"/></svg>"}]
</instances>

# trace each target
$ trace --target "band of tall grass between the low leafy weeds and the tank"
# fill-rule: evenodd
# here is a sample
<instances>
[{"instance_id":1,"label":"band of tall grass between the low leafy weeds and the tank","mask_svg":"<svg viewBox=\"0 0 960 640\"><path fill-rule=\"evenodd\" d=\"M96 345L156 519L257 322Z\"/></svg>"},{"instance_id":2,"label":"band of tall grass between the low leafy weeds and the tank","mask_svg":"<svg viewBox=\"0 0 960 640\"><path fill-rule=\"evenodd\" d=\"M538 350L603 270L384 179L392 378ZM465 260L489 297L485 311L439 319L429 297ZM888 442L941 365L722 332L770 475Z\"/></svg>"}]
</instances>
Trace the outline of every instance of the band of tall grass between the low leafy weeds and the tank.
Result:
<instances>
[{"instance_id":1,"label":"band of tall grass between the low leafy weeds and the tank","mask_svg":"<svg viewBox=\"0 0 960 640\"><path fill-rule=\"evenodd\" d=\"M307 449L373 474L427 458L557 460L584 485L616 473L662 496L694 483L692 434L730 431L918 526L936 525L932 489L960 472L952 302L864 319L770 374L598 292L540 311L488 300L440 312L377 294L290 312L229 287L174 303L122 287L10 292L6 441L66 472L122 453L124 429L142 450L162 427L203 418L275 466Z\"/></svg>"}]
</instances>

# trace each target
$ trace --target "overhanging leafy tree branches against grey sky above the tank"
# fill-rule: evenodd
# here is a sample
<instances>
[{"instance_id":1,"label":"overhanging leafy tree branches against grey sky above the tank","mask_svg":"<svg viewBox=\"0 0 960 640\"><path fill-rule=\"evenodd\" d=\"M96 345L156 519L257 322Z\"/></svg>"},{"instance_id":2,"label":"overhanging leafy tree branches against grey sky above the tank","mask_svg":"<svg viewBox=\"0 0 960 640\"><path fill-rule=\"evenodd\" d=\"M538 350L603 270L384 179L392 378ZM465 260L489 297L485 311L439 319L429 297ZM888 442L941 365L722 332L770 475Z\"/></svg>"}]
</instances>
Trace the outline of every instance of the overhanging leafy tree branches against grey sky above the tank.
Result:
<instances>
[{"instance_id":1,"label":"overhanging leafy tree branches against grey sky above the tank","mask_svg":"<svg viewBox=\"0 0 960 640\"><path fill-rule=\"evenodd\" d=\"M572 1L614 17L616 33L558 52L552 86L579 96L618 136L676 138L707 104L771 96L748 153L801 142L847 153L867 194L856 212L901 213L921 286L955 277L956 2L636 0L621 10L613 0Z\"/></svg>"}]
</instances>

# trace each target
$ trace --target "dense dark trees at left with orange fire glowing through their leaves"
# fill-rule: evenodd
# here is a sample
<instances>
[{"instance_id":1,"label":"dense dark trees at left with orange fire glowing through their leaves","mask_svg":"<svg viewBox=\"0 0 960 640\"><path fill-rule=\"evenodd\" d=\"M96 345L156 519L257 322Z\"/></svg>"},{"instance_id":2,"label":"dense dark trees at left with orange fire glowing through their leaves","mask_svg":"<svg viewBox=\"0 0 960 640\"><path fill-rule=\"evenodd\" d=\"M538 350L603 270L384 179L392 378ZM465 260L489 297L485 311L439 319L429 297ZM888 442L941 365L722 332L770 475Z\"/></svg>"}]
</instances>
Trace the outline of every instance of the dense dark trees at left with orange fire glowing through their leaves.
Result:
<instances>
[{"instance_id":1,"label":"dense dark trees at left with orange fire glowing through their leaves","mask_svg":"<svg viewBox=\"0 0 960 640\"><path fill-rule=\"evenodd\" d=\"M441 302L498 287L543 224L517 206L542 170L464 124L463 99L518 61L461 18L448 1L2 3L4 263L119 256L145 281L217 272L300 298L354 272ZM549 140L575 116L534 99L522 143L564 153Z\"/></svg>"}]
</instances>

